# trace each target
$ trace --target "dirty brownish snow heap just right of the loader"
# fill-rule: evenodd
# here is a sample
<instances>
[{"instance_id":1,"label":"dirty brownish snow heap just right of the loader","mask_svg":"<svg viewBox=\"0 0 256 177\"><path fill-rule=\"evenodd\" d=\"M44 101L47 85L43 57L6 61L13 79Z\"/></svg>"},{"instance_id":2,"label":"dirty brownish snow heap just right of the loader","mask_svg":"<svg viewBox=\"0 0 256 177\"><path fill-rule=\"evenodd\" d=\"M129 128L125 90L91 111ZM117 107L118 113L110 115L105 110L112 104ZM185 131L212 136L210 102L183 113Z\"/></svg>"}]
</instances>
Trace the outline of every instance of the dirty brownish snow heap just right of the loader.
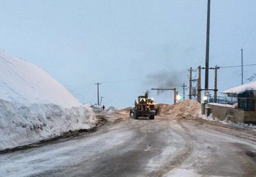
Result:
<instances>
[{"instance_id":1,"label":"dirty brownish snow heap just right of the loader","mask_svg":"<svg viewBox=\"0 0 256 177\"><path fill-rule=\"evenodd\" d=\"M157 104L158 113L176 118L197 118L201 114L201 104L194 100L184 100L177 104Z\"/></svg>"}]
</instances>

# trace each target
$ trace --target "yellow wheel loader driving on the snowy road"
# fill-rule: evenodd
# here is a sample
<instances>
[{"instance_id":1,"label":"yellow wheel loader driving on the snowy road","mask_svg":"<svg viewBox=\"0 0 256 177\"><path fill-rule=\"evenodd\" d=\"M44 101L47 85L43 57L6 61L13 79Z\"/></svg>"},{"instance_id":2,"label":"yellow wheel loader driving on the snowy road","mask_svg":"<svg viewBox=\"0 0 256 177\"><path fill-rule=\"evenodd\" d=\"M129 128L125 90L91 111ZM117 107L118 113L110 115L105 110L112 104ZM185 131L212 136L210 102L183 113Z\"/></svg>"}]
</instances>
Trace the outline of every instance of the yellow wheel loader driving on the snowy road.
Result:
<instances>
[{"instance_id":1,"label":"yellow wheel loader driving on the snowy road","mask_svg":"<svg viewBox=\"0 0 256 177\"><path fill-rule=\"evenodd\" d=\"M130 110L130 116L133 115L134 119L139 117L149 117L154 119L156 115L156 109L153 98L148 98L146 93L143 96L138 96L137 101L135 100L135 106Z\"/></svg>"}]
</instances>

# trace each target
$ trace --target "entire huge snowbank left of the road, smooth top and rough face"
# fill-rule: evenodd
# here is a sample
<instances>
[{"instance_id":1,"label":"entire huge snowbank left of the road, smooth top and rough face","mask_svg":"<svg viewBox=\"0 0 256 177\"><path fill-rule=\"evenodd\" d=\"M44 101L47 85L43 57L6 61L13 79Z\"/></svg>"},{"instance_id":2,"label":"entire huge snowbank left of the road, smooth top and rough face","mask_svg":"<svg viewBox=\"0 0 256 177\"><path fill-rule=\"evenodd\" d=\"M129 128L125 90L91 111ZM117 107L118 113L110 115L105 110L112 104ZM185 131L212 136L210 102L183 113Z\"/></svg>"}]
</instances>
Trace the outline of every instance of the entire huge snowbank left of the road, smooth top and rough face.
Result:
<instances>
[{"instance_id":1,"label":"entire huge snowbank left of the road, smooth top and rough face","mask_svg":"<svg viewBox=\"0 0 256 177\"><path fill-rule=\"evenodd\" d=\"M38 67L0 52L0 150L89 129L94 112Z\"/></svg>"}]
</instances>

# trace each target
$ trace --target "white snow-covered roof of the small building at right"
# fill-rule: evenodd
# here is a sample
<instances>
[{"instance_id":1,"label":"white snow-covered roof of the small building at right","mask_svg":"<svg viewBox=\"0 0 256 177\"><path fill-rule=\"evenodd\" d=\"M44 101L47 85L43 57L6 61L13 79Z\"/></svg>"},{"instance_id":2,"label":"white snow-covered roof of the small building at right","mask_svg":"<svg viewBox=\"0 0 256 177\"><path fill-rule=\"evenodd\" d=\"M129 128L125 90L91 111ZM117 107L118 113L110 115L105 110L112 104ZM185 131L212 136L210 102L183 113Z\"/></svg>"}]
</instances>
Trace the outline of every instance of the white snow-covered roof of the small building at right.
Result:
<instances>
[{"instance_id":1,"label":"white snow-covered roof of the small building at right","mask_svg":"<svg viewBox=\"0 0 256 177\"><path fill-rule=\"evenodd\" d=\"M256 81L245 83L236 87L232 87L222 93L224 94L243 94L249 90L256 90Z\"/></svg>"}]
</instances>

